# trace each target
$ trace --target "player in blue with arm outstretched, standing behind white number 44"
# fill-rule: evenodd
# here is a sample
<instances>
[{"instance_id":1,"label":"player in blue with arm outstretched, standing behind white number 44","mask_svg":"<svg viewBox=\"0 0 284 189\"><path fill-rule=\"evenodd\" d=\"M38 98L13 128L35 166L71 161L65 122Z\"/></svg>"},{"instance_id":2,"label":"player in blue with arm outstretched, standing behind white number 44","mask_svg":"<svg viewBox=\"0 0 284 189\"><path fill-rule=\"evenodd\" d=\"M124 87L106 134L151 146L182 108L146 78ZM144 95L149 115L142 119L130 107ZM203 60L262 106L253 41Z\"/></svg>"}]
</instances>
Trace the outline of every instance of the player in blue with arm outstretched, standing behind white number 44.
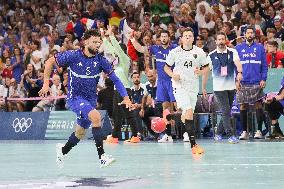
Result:
<instances>
[{"instance_id":1,"label":"player in blue with arm outstretched, standing behind white number 44","mask_svg":"<svg viewBox=\"0 0 284 189\"><path fill-rule=\"evenodd\" d=\"M173 87L171 77L164 71L164 67L166 65L166 58L170 52L170 50L177 47L175 44L170 44L170 34L168 31L163 30L158 36L161 41L161 45L151 45L148 49L147 47L141 46L135 38L131 38L131 42L134 48L141 53L149 53L155 57L156 61L156 69L157 69L157 102L163 103L163 110L173 109L173 102L175 102L175 97L173 94ZM167 118L169 121L170 118ZM166 134L164 137L159 140L159 142L173 142L171 136L171 124L168 122L166 128Z\"/></svg>"}]
</instances>

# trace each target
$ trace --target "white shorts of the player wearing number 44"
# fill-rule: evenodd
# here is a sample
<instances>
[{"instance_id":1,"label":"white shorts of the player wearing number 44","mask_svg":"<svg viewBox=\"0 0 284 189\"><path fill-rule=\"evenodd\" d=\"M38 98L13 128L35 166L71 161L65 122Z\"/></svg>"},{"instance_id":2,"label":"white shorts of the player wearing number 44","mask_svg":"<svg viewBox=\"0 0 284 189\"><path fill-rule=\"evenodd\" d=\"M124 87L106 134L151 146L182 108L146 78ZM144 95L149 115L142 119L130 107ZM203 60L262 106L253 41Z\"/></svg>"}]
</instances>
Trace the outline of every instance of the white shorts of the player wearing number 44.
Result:
<instances>
[{"instance_id":1,"label":"white shorts of the player wearing number 44","mask_svg":"<svg viewBox=\"0 0 284 189\"><path fill-rule=\"evenodd\" d=\"M185 87L174 88L174 95L177 102L177 107L182 109L182 114L185 114L186 110L192 109L194 112L197 102L198 92L193 92Z\"/></svg>"}]
</instances>

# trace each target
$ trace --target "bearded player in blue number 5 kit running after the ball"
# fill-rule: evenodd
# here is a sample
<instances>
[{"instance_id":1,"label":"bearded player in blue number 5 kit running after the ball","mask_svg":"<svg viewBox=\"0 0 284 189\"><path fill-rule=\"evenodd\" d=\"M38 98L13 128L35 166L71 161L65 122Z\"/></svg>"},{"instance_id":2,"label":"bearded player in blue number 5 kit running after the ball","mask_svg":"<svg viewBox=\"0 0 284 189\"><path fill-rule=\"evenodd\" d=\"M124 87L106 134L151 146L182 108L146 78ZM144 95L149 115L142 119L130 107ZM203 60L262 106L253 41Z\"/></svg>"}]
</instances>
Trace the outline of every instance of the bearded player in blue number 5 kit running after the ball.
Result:
<instances>
[{"instance_id":1,"label":"bearded player in blue number 5 kit running after the ball","mask_svg":"<svg viewBox=\"0 0 284 189\"><path fill-rule=\"evenodd\" d=\"M127 108L131 101L121 81L113 72L111 64L98 53L102 40L97 30L88 30L83 36L84 47L78 50L69 50L57 53L45 63L44 85L39 92L46 96L49 91L49 78L52 67L68 67L68 95L67 103L70 109L77 115L77 126L71 134L68 142L57 144L57 163L63 166L66 154L78 144L85 136L86 129L92 126L92 134L96 143L101 167L106 167L115 161L106 155L103 149L103 132L101 129L101 115L96 110L97 102L97 77L103 71L114 82L117 91L123 97L122 104Z\"/></svg>"}]
</instances>

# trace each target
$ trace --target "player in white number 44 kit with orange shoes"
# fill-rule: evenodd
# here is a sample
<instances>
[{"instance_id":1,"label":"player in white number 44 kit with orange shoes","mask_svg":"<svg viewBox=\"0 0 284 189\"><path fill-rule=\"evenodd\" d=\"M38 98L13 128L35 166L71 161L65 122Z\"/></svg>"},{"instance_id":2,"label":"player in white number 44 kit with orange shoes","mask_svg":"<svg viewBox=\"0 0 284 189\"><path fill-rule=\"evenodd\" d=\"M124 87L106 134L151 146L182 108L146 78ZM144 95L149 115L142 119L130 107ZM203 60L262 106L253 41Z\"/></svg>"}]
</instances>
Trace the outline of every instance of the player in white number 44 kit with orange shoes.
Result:
<instances>
[{"instance_id":1,"label":"player in white number 44 kit with orange shoes","mask_svg":"<svg viewBox=\"0 0 284 189\"><path fill-rule=\"evenodd\" d=\"M187 28L182 33L182 45L171 50L167 57L165 72L172 78L174 95L177 107L182 109L182 121L189 135L193 154L202 154L204 150L195 142L193 127L193 112L199 91L199 75L204 75L202 91L206 94L206 78L209 67L206 63L205 52L192 45L194 41L193 30ZM175 65L173 71L171 66Z\"/></svg>"}]
</instances>

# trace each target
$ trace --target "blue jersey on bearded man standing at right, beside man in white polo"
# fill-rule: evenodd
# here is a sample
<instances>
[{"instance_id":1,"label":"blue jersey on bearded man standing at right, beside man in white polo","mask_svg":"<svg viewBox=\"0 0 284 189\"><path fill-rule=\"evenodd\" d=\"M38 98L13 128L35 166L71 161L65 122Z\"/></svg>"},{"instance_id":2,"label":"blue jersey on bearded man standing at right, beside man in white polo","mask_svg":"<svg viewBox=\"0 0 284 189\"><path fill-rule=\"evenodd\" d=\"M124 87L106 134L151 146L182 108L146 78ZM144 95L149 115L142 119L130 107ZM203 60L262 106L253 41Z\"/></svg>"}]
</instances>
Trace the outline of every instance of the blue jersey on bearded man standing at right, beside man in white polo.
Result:
<instances>
[{"instance_id":1,"label":"blue jersey on bearded man standing at right, beside man in white polo","mask_svg":"<svg viewBox=\"0 0 284 189\"><path fill-rule=\"evenodd\" d=\"M259 84L267 79L266 53L263 45L243 42L236 46L243 67L242 84Z\"/></svg>"}]
</instances>

